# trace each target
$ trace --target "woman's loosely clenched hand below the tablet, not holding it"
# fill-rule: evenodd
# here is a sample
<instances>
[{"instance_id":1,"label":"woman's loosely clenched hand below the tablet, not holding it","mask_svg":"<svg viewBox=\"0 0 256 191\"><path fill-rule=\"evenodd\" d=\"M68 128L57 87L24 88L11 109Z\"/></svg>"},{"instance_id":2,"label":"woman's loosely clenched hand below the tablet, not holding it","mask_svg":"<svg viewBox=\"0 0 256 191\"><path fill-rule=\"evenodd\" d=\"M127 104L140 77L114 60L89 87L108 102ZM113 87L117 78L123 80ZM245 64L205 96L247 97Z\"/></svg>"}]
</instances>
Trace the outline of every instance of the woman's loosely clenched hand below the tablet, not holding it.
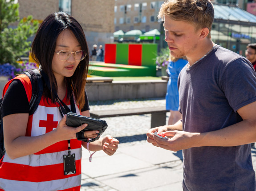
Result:
<instances>
[{"instance_id":1,"label":"woman's loosely clenched hand below the tablet, not holding it","mask_svg":"<svg viewBox=\"0 0 256 191\"><path fill-rule=\"evenodd\" d=\"M106 135L102 139L101 147L107 155L112 156L118 149L119 140L110 135Z\"/></svg>"}]
</instances>

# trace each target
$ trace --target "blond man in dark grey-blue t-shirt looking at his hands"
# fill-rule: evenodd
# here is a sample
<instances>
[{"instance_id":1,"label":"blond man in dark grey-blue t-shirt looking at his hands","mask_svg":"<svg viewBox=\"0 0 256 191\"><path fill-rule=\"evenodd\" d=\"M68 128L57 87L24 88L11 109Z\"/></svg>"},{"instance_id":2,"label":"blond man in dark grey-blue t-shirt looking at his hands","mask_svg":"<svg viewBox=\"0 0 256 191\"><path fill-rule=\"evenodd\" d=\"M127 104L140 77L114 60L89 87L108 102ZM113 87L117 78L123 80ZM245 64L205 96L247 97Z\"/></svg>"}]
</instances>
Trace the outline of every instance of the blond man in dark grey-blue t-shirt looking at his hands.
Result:
<instances>
[{"instance_id":1,"label":"blond man in dark grey-blue t-shirt looking at his hands","mask_svg":"<svg viewBox=\"0 0 256 191\"><path fill-rule=\"evenodd\" d=\"M184 191L255 191L251 143L256 142L256 73L252 65L211 41L214 10L210 0L169 0L158 17L164 19L171 55L186 56L188 64L178 79L182 120L150 129L148 142L183 150Z\"/></svg>"}]
</instances>

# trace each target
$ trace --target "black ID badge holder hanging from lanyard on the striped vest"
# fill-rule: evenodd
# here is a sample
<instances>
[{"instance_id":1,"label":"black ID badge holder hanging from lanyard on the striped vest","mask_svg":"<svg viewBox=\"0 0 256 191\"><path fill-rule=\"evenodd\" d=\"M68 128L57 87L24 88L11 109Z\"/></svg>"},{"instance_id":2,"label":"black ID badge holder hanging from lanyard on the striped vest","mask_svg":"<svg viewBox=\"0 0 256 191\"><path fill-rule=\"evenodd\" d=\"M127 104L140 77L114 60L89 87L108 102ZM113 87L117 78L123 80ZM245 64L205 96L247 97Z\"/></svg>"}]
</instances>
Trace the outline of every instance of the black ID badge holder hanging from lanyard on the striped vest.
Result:
<instances>
[{"instance_id":1,"label":"black ID badge holder hanging from lanyard on the striped vest","mask_svg":"<svg viewBox=\"0 0 256 191\"><path fill-rule=\"evenodd\" d=\"M64 163L64 175L76 174L76 158L75 153L71 153L70 148L70 140L68 140L69 148L68 155L63 155L63 163Z\"/></svg>"}]
</instances>

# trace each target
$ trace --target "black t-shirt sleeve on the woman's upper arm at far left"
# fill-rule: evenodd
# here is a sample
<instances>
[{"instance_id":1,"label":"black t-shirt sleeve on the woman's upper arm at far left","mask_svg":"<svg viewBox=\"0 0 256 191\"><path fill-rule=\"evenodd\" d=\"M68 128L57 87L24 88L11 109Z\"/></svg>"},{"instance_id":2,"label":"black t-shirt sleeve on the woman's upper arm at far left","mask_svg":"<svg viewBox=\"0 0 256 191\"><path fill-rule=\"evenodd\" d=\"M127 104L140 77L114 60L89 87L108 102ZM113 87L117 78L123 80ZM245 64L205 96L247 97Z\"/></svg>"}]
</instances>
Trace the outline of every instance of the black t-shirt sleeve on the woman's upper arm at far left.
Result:
<instances>
[{"instance_id":1,"label":"black t-shirt sleeve on the woman's upper arm at far left","mask_svg":"<svg viewBox=\"0 0 256 191\"><path fill-rule=\"evenodd\" d=\"M20 80L11 82L2 103L2 117L14 113L29 113L28 97Z\"/></svg>"}]
</instances>

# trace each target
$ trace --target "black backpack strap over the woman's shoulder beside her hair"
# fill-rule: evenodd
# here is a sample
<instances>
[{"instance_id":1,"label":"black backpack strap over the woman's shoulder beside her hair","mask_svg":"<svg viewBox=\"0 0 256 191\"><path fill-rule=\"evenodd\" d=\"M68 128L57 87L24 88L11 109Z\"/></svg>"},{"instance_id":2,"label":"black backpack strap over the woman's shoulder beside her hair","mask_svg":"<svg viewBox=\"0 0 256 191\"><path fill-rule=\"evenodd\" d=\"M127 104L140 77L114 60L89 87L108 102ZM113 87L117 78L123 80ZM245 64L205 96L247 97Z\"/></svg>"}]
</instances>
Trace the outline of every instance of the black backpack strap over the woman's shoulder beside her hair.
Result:
<instances>
[{"instance_id":1,"label":"black backpack strap over the woman's shoulder beside her hair","mask_svg":"<svg viewBox=\"0 0 256 191\"><path fill-rule=\"evenodd\" d=\"M32 115L37 110L43 94L43 80L38 69L25 71L24 74L28 76L32 86L32 96L29 101L29 115Z\"/></svg>"}]
</instances>

